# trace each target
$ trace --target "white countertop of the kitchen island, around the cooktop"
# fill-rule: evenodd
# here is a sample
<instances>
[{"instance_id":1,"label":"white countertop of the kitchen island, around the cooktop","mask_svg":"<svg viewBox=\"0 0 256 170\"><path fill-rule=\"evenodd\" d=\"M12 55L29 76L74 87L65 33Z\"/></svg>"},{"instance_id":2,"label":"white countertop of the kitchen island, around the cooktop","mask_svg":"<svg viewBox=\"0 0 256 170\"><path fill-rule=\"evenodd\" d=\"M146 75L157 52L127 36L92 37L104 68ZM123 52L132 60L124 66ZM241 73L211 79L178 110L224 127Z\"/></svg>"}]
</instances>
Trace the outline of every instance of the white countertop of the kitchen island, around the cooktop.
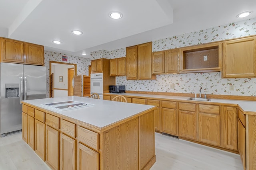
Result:
<instances>
[{"instance_id":1,"label":"white countertop of the kitchen island, around the cooktop","mask_svg":"<svg viewBox=\"0 0 256 170\"><path fill-rule=\"evenodd\" d=\"M51 109L41 104L54 103L54 102L64 102L64 101L77 101L94 104L94 106L72 109L68 111L58 111L56 109ZM24 100L24 103L34 105L36 107L41 107L53 111L55 113L83 121L90 125L102 128L132 115L136 115L150 109L154 106L142 105L142 104L131 104L124 102L113 102L108 100L99 100L91 98L83 98L77 96L59 97L59 98L46 98L46 99L36 99L36 100Z\"/></svg>"}]
</instances>

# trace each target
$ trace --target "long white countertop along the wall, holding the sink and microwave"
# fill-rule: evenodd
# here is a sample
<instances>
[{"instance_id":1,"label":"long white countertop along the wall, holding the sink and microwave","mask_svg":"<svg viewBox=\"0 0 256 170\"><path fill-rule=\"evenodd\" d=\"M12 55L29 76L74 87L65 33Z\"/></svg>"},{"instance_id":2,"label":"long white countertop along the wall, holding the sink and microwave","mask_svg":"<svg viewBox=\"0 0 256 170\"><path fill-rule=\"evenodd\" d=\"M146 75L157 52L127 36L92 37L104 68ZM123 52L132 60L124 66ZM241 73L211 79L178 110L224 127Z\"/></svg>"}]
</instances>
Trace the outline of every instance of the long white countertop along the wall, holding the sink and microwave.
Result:
<instances>
[{"instance_id":1,"label":"long white countertop along the wall, holding the sink and microwave","mask_svg":"<svg viewBox=\"0 0 256 170\"><path fill-rule=\"evenodd\" d=\"M106 93L106 94L113 94L113 93ZM116 94L116 95L118 95L118 94ZM139 94L139 93L121 93L120 95L136 96L136 97L144 97L144 98L158 98L159 100L160 99L188 100L188 98L190 98L190 97L183 97L183 96L168 96L168 95ZM193 101L193 100L188 100L188 101ZM193 102L196 102L196 101L193 101ZM200 102L202 102L202 101L200 101ZM256 112L256 102L255 101L211 99L209 102L205 102L205 103L206 104L207 103L238 104L244 111Z\"/></svg>"}]
</instances>

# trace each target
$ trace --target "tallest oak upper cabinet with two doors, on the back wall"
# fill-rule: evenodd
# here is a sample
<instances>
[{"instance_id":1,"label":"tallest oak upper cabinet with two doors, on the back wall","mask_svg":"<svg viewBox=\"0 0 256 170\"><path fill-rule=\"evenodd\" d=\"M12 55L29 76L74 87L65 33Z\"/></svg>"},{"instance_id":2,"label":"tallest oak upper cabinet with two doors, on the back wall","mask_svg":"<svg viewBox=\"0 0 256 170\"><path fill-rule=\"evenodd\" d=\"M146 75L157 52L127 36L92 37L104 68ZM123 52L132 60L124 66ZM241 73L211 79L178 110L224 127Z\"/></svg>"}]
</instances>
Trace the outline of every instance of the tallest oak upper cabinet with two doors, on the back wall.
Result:
<instances>
[{"instance_id":1,"label":"tallest oak upper cabinet with two doors, on the back wall","mask_svg":"<svg viewBox=\"0 0 256 170\"><path fill-rule=\"evenodd\" d=\"M152 80L156 76L151 71L152 42L126 48L127 80Z\"/></svg>"}]
</instances>

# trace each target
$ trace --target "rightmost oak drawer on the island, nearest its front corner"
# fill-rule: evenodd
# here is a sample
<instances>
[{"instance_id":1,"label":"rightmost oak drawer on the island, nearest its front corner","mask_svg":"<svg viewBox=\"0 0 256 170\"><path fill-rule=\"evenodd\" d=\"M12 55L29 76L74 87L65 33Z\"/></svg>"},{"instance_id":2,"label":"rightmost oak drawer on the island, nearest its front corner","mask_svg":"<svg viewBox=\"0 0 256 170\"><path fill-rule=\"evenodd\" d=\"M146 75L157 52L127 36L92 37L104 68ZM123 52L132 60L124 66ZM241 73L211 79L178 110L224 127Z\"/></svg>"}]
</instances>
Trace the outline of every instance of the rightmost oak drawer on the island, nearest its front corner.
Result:
<instances>
[{"instance_id":1,"label":"rightmost oak drawer on the island, nearest its front corner","mask_svg":"<svg viewBox=\"0 0 256 170\"><path fill-rule=\"evenodd\" d=\"M77 140L93 149L99 150L99 137L100 135L96 132L77 127Z\"/></svg>"}]
</instances>

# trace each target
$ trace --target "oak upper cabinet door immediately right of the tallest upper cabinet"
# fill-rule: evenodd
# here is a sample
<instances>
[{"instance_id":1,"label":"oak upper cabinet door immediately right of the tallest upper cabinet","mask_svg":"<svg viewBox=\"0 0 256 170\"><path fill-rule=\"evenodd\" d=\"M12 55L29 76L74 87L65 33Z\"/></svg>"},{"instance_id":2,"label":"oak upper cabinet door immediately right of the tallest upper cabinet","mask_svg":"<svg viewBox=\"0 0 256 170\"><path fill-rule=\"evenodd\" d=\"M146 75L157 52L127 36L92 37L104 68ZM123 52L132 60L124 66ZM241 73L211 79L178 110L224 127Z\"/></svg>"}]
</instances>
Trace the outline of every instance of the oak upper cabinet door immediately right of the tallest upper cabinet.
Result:
<instances>
[{"instance_id":1,"label":"oak upper cabinet door immediately right of the tallest upper cabinet","mask_svg":"<svg viewBox=\"0 0 256 170\"><path fill-rule=\"evenodd\" d=\"M164 51L152 53L152 73L164 73Z\"/></svg>"}]
</instances>

